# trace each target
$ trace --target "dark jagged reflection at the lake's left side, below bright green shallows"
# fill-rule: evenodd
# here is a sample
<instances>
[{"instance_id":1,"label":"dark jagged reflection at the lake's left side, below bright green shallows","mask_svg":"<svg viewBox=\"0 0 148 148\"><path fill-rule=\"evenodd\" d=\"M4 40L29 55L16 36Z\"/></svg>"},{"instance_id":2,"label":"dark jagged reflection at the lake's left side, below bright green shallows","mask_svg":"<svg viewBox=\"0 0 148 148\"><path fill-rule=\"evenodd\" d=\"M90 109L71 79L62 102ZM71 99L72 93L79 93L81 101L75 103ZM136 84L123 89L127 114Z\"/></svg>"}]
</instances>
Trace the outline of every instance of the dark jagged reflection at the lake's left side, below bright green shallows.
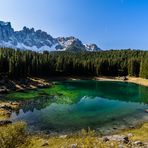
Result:
<instances>
[{"instance_id":1,"label":"dark jagged reflection at the lake's left side, below bright green shallows","mask_svg":"<svg viewBox=\"0 0 148 148\"><path fill-rule=\"evenodd\" d=\"M54 96L40 96L35 99L21 101L21 109L23 112L31 111L33 112L34 109L41 110L49 106L53 101L55 101Z\"/></svg>"}]
</instances>

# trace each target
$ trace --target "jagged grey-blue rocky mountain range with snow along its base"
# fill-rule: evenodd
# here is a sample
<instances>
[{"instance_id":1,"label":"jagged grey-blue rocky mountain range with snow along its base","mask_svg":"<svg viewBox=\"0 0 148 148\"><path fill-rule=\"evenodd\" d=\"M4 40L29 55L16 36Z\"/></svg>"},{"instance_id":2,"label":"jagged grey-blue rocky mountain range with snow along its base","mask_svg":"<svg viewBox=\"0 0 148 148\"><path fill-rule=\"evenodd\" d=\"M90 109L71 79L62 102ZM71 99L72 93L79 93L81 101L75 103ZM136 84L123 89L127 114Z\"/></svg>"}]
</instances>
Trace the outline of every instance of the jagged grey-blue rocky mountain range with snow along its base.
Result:
<instances>
[{"instance_id":1,"label":"jagged grey-blue rocky mountain range with snow along its base","mask_svg":"<svg viewBox=\"0 0 148 148\"><path fill-rule=\"evenodd\" d=\"M83 44L79 39L71 37L53 38L42 30L24 27L14 31L10 22L0 21L0 47L9 47L33 51L99 51L96 44Z\"/></svg>"}]
</instances>

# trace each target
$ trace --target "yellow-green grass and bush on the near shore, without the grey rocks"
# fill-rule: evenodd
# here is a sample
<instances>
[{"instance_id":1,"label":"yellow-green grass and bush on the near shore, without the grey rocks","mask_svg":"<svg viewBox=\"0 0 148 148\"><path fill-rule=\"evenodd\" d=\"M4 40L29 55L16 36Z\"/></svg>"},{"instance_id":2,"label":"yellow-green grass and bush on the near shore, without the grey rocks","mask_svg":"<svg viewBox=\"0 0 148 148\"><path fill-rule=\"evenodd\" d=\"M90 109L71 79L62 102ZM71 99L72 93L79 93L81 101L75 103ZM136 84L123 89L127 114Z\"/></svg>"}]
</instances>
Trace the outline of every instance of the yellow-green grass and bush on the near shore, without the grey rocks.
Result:
<instances>
[{"instance_id":1,"label":"yellow-green grass and bush on the near shore, without the grey rocks","mask_svg":"<svg viewBox=\"0 0 148 148\"><path fill-rule=\"evenodd\" d=\"M148 142L148 123L141 128L132 129L120 134L132 133L131 141L140 140ZM17 122L12 125L0 127L0 146L2 148L119 148L119 145L130 148L131 145L117 141L103 142L95 131L82 130L79 134L67 136L28 135L26 124Z\"/></svg>"}]
</instances>

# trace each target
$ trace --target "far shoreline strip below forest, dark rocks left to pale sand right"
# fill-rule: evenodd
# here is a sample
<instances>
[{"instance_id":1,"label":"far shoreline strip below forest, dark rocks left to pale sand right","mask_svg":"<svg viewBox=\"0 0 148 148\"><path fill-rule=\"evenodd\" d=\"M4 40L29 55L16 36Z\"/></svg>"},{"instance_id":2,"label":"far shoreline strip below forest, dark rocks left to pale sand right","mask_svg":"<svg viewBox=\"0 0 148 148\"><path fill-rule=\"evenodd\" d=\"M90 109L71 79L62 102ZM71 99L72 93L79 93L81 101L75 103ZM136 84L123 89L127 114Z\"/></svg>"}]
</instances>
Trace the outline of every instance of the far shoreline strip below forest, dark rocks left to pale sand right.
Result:
<instances>
[{"instance_id":1,"label":"far shoreline strip below forest, dark rocks left to pale sand right","mask_svg":"<svg viewBox=\"0 0 148 148\"><path fill-rule=\"evenodd\" d=\"M34 90L37 88L49 88L54 85L54 81L64 80L96 80L96 81L115 81L115 82L129 82L148 87L148 79L140 77L81 77L81 76L60 76L50 78L28 77L20 80L1 79L0 80L0 97L9 92L18 92L26 90Z\"/></svg>"}]
</instances>

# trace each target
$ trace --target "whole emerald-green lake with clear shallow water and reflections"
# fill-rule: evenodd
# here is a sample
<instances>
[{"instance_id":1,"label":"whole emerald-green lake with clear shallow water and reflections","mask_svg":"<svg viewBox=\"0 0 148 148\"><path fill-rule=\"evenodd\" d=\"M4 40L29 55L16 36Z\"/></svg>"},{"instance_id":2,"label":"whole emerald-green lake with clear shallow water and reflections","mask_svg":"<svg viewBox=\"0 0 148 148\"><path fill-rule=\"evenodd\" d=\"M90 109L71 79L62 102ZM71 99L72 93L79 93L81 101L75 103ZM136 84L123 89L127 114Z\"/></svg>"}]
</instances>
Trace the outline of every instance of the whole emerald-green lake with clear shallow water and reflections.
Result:
<instances>
[{"instance_id":1,"label":"whole emerald-green lake with clear shallow water and reflections","mask_svg":"<svg viewBox=\"0 0 148 148\"><path fill-rule=\"evenodd\" d=\"M65 81L9 97L26 99L11 119L26 121L32 131L62 133L90 127L108 134L148 121L148 88L132 83Z\"/></svg>"}]
</instances>

